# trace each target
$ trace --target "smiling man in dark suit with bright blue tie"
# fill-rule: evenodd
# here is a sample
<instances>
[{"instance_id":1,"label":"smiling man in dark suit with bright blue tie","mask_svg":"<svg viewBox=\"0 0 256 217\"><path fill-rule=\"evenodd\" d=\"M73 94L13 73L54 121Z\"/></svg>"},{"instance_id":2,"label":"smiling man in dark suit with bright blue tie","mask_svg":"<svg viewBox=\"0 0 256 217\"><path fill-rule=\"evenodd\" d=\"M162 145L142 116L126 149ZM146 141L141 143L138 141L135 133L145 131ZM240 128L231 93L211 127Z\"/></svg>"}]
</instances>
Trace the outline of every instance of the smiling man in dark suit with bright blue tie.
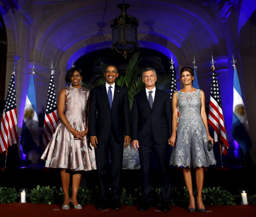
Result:
<instances>
[{"instance_id":1,"label":"smiling man in dark suit with bright blue tie","mask_svg":"<svg viewBox=\"0 0 256 217\"><path fill-rule=\"evenodd\" d=\"M98 210L106 209L109 187L112 189L112 208L118 210L121 208L120 172L123 151L130 144L130 108L128 90L115 84L118 77L116 66L108 65L104 77L106 84L95 87L90 95L88 129L91 144L95 147L100 178ZM108 186L107 178L109 166L111 186Z\"/></svg>"}]
</instances>

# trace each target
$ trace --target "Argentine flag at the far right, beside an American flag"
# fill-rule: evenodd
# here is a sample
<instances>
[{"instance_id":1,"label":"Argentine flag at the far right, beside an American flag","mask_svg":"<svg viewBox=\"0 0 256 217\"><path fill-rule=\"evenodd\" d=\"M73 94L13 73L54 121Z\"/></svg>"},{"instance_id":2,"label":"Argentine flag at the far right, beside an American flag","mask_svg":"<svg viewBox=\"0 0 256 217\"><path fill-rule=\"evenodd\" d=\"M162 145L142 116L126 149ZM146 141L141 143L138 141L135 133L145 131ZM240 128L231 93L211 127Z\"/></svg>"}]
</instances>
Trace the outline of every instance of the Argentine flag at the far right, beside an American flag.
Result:
<instances>
[{"instance_id":1,"label":"Argentine flag at the far right, beside an American flag","mask_svg":"<svg viewBox=\"0 0 256 217\"><path fill-rule=\"evenodd\" d=\"M242 99L240 83L234 66L234 86L233 86L233 119L232 134L234 140L240 145L243 152L246 153L252 148L252 140L250 138L249 126Z\"/></svg>"}]
</instances>

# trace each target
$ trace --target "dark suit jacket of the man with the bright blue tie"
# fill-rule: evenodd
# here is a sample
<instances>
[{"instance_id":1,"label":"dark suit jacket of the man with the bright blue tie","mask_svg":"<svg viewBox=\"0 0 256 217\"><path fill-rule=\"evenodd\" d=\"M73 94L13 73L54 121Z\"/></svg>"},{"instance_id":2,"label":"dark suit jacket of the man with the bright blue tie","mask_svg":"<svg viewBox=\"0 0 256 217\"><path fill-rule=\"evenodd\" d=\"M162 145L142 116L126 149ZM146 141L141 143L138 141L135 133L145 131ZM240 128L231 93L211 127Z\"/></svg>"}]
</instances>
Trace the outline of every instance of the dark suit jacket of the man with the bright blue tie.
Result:
<instances>
[{"instance_id":1,"label":"dark suit jacket of the man with the bright blue tie","mask_svg":"<svg viewBox=\"0 0 256 217\"><path fill-rule=\"evenodd\" d=\"M123 144L124 136L130 136L130 108L128 90L115 84L112 109L108 102L106 85L95 87L90 95L88 117L90 136L97 136L99 144L108 141L110 132L117 143Z\"/></svg>"}]
</instances>

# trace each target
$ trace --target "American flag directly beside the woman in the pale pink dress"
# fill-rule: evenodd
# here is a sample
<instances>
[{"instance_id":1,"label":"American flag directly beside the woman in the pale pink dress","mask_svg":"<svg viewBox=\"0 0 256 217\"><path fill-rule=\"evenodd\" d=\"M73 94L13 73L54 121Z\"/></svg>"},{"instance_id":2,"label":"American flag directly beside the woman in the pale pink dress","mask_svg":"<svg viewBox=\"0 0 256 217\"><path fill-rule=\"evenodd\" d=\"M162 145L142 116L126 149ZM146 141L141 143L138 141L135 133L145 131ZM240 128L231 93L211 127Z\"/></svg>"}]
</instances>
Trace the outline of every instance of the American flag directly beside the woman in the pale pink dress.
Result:
<instances>
[{"instance_id":1,"label":"American flag directly beside the woman in the pale pink dress","mask_svg":"<svg viewBox=\"0 0 256 217\"><path fill-rule=\"evenodd\" d=\"M49 87L48 87L45 115L44 115L44 128L43 128L43 140L42 140L43 148L47 146L58 124L57 102L56 102L53 74L54 74L54 71L52 70Z\"/></svg>"}]
</instances>

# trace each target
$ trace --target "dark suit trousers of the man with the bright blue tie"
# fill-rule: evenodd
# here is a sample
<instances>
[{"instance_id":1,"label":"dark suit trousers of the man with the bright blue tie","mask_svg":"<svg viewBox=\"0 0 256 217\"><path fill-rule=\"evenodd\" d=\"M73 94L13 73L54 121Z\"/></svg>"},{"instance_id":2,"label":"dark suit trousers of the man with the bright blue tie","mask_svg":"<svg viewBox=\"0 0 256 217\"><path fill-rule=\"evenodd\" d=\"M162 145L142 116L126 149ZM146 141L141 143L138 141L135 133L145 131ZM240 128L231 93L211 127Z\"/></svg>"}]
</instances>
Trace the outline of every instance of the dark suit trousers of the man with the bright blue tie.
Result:
<instances>
[{"instance_id":1,"label":"dark suit trousers of the man with the bright blue tie","mask_svg":"<svg viewBox=\"0 0 256 217\"><path fill-rule=\"evenodd\" d=\"M111 187L113 203L120 201L120 173L122 171L124 144L118 144L112 134L105 144L98 144L95 149L96 166L100 181L100 200L108 198ZM110 185L110 186L109 186Z\"/></svg>"}]
</instances>

